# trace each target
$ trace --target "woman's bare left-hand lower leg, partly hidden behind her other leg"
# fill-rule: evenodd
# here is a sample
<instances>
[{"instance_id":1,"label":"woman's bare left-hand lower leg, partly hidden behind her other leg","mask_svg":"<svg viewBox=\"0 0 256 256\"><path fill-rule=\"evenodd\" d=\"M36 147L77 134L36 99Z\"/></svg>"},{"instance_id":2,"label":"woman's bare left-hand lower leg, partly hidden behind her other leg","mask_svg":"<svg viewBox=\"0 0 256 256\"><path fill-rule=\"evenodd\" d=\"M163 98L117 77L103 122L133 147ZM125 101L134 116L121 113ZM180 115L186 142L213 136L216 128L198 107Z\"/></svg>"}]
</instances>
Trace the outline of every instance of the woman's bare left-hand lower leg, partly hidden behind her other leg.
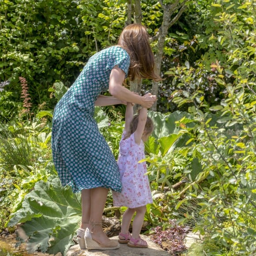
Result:
<instances>
[{"instance_id":1,"label":"woman's bare left-hand lower leg, partly hidden behind her other leg","mask_svg":"<svg viewBox=\"0 0 256 256\"><path fill-rule=\"evenodd\" d=\"M81 229L86 229L90 220L90 189L83 189L81 191L82 200L82 220Z\"/></svg>"}]
</instances>

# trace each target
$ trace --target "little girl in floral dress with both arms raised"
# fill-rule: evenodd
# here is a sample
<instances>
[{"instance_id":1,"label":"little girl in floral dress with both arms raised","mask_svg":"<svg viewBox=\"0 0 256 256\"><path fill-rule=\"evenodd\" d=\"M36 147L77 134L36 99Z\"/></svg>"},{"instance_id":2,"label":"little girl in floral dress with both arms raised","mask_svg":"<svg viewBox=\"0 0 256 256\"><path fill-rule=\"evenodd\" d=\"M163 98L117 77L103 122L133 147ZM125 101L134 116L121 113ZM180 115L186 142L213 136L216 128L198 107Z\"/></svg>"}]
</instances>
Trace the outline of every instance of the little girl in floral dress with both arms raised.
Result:
<instances>
[{"instance_id":1,"label":"little girl in floral dress with both arms raised","mask_svg":"<svg viewBox=\"0 0 256 256\"><path fill-rule=\"evenodd\" d=\"M147 117L147 109L142 108L139 115L133 117L132 104L128 103L125 113L125 126L120 141L120 154L117 161L122 182L121 193L113 192L114 206L126 206L122 218L122 229L119 242L127 243L130 247L147 248L147 242L140 238L146 205L152 203L146 163L139 163L145 158L144 143L153 131L153 122ZM132 235L129 226L132 223Z\"/></svg>"}]
</instances>

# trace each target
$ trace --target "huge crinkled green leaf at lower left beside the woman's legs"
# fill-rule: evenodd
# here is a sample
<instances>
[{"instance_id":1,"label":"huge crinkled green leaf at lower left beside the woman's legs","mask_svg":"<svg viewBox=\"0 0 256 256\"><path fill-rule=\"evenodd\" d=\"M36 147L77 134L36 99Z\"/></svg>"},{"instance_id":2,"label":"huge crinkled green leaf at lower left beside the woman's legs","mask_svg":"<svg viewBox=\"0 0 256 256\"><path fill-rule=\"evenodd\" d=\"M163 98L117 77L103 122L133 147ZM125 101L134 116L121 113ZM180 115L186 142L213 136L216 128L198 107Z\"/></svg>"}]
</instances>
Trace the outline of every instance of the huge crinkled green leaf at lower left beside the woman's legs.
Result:
<instances>
[{"instance_id":1,"label":"huge crinkled green leaf at lower left beside the woman's legs","mask_svg":"<svg viewBox=\"0 0 256 256\"><path fill-rule=\"evenodd\" d=\"M39 181L26 195L22 208L13 214L9 226L24 222L20 238L27 238L27 250L66 254L81 219L80 194L63 187L58 177Z\"/></svg>"}]
</instances>

